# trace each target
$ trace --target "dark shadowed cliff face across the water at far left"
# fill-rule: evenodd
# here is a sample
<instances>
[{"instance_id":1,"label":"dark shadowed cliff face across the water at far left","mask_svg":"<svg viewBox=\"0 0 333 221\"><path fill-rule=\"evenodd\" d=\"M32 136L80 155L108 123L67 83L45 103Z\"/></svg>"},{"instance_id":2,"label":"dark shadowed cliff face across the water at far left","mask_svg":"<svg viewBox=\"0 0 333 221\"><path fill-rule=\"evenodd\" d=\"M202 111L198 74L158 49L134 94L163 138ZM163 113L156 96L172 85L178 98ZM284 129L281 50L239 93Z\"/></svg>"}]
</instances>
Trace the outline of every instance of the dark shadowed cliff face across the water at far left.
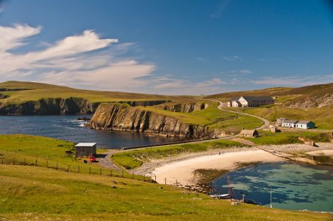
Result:
<instances>
[{"instance_id":1,"label":"dark shadowed cliff face across the water at far left","mask_svg":"<svg viewBox=\"0 0 333 221\"><path fill-rule=\"evenodd\" d=\"M99 103L91 103L84 98L46 98L39 101L9 103L0 105L1 115L59 115L91 114Z\"/></svg>"}]
</instances>

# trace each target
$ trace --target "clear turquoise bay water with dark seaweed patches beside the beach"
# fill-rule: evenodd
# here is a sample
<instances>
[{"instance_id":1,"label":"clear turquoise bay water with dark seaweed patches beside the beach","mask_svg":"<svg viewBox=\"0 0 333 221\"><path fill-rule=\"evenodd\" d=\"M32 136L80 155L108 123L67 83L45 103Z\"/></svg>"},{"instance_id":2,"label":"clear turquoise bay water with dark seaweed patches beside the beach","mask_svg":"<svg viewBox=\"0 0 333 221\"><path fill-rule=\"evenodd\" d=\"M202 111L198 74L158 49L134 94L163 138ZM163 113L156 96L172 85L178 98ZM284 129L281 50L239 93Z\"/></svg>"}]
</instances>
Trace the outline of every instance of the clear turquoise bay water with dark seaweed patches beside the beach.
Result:
<instances>
[{"instance_id":1,"label":"clear turquoise bay water with dark seaweed patches beside the beach","mask_svg":"<svg viewBox=\"0 0 333 221\"><path fill-rule=\"evenodd\" d=\"M238 198L273 208L333 212L333 167L295 164L293 162L259 164L229 173ZM227 193L227 178L215 179L216 193Z\"/></svg>"}]
</instances>

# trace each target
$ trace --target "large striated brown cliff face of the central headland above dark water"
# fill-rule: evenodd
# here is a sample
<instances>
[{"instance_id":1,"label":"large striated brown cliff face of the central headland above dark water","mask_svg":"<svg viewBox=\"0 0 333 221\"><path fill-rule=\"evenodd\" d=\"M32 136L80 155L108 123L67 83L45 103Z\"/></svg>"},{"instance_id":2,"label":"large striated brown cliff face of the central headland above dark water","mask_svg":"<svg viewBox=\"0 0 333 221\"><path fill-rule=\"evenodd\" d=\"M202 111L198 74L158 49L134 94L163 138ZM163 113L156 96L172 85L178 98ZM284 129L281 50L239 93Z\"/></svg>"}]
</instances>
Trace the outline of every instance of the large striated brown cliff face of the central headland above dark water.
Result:
<instances>
[{"instance_id":1,"label":"large striated brown cliff face of the central headland above dark water","mask_svg":"<svg viewBox=\"0 0 333 221\"><path fill-rule=\"evenodd\" d=\"M191 138L218 137L218 132L180 120L121 104L101 103L91 118L90 128L147 132L165 136Z\"/></svg>"}]
</instances>

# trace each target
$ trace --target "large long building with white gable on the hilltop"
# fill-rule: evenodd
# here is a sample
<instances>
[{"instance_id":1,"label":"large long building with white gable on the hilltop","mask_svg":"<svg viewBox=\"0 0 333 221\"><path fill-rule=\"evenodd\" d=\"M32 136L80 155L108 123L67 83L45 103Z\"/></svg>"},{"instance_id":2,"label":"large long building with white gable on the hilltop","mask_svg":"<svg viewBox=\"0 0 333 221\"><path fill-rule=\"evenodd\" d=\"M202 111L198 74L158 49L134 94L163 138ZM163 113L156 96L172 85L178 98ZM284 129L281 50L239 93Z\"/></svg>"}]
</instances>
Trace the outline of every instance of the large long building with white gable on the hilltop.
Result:
<instances>
[{"instance_id":1,"label":"large long building with white gable on the hilltop","mask_svg":"<svg viewBox=\"0 0 333 221\"><path fill-rule=\"evenodd\" d=\"M227 101L228 107L259 107L273 104L274 100L270 96L241 96Z\"/></svg>"}]
</instances>

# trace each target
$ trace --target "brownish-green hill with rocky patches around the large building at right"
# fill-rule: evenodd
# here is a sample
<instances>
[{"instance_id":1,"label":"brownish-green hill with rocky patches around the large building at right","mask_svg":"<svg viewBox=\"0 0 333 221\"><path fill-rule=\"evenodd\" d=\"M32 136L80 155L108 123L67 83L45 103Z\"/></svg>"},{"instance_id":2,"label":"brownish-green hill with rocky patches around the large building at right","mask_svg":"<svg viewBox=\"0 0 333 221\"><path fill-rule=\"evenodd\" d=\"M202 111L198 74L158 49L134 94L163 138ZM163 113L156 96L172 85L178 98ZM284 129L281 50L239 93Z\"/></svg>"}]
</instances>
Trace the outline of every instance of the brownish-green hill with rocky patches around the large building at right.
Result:
<instances>
[{"instance_id":1,"label":"brownish-green hill with rocky patches around the large building at right","mask_svg":"<svg viewBox=\"0 0 333 221\"><path fill-rule=\"evenodd\" d=\"M206 98L226 101L233 96L277 96L276 104L258 108L231 108L258 115L271 121L276 118L312 120L319 129L333 129L333 84L299 88L271 88L215 94Z\"/></svg>"}]
</instances>

